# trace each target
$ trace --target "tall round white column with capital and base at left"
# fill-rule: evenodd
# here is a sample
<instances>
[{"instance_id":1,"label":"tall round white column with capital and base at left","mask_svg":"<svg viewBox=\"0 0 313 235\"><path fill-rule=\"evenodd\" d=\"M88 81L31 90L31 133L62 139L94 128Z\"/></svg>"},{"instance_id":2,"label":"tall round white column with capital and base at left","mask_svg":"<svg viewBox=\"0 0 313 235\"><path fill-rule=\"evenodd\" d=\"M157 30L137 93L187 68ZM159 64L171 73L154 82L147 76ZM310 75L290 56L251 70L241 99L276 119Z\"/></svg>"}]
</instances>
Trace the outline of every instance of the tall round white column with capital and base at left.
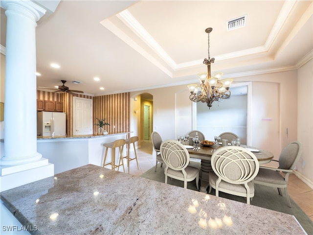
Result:
<instances>
[{"instance_id":1,"label":"tall round white column with capital and base at left","mask_svg":"<svg viewBox=\"0 0 313 235\"><path fill-rule=\"evenodd\" d=\"M7 16L4 156L0 165L37 161L36 26L45 9L30 0L1 0Z\"/></svg>"}]
</instances>

